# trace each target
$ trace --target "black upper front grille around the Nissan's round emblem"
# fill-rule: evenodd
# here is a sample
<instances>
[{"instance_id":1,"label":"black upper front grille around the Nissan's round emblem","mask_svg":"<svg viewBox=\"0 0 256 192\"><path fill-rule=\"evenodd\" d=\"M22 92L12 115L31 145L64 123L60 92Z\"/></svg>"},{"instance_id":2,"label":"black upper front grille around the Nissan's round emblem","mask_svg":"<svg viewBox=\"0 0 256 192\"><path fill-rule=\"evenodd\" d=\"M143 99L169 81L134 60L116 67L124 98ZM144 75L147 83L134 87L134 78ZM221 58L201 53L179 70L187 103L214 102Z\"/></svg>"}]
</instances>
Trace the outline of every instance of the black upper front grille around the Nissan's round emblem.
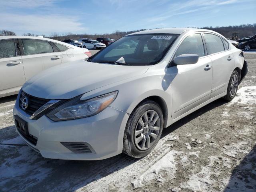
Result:
<instances>
[{"instance_id":1,"label":"black upper front grille around the Nissan's round emblem","mask_svg":"<svg viewBox=\"0 0 256 192\"><path fill-rule=\"evenodd\" d=\"M48 101L48 99L43 99L43 98L38 98L38 97L34 97L31 96L29 94L26 94L23 90L20 94L20 109L22 109L22 100L24 98L28 99L28 107L26 108L26 110L24 110L27 114L32 115L34 114L34 112L36 112L36 110L38 110L40 107L42 107L44 104L46 104ZM22 109L23 110L23 109Z\"/></svg>"}]
</instances>

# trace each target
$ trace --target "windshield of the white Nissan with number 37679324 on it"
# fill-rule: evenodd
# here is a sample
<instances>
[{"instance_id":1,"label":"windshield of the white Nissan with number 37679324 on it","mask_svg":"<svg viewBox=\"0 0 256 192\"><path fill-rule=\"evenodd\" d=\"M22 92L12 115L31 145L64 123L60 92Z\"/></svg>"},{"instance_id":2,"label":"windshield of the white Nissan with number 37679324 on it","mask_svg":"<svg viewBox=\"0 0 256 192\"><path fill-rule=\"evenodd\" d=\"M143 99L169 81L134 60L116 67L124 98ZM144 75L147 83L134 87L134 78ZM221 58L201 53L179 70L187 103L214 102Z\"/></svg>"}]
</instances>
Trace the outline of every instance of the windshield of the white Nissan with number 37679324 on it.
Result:
<instances>
[{"instance_id":1,"label":"windshield of the white Nissan with number 37679324 on it","mask_svg":"<svg viewBox=\"0 0 256 192\"><path fill-rule=\"evenodd\" d=\"M177 37L177 34L124 36L92 56L90 61L118 62L118 64L134 66L154 65L162 60Z\"/></svg>"}]
</instances>

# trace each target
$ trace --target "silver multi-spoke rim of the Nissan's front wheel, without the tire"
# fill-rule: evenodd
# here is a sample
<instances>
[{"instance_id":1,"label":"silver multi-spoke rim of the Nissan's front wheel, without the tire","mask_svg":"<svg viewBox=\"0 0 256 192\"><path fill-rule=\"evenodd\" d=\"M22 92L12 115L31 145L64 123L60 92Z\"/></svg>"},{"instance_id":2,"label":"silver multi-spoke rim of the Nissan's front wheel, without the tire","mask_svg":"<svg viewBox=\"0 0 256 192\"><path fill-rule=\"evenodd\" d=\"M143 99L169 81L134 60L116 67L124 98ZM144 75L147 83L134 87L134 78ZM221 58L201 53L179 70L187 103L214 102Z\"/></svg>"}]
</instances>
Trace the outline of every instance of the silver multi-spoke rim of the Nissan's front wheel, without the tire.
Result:
<instances>
[{"instance_id":1,"label":"silver multi-spoke rim of the Nissan's front wheel, without the tire","mask_svg":"<svg viewBox=\"0 0 256 192\"><path fill-rule=\"evenodd\" d=\"M160 118L156 111L148 110L139 118L134 132L134 142L139 150L147 150L154 144L160 130Z\"/></svg>"}]
</instances>

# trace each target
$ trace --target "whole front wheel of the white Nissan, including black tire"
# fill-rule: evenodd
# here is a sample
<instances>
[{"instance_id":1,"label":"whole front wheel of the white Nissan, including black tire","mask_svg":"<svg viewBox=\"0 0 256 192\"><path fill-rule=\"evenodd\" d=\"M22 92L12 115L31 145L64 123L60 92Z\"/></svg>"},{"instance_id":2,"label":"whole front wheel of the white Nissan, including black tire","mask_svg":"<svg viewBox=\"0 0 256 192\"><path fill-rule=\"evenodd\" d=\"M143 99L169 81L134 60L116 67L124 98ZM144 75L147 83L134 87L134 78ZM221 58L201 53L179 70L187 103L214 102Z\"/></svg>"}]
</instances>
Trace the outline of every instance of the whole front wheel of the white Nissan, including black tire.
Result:
<instances>
[{"instance_id":1,"label":"whole front wheel of the white Nissan, including black tire","mask_svg":"<svg viewBox=\"0 0 256 192\"><path fill-rule=\"evenodd\" d=\"M148 121L146 121L145 114L148 116ZM156 121L155 124L154 121ZM151 100L141 102L127 121L124 130L123 152L134 158L148 155L161 137L163 124L164 118L160 106Z\"/></svg>"}]
</instances>

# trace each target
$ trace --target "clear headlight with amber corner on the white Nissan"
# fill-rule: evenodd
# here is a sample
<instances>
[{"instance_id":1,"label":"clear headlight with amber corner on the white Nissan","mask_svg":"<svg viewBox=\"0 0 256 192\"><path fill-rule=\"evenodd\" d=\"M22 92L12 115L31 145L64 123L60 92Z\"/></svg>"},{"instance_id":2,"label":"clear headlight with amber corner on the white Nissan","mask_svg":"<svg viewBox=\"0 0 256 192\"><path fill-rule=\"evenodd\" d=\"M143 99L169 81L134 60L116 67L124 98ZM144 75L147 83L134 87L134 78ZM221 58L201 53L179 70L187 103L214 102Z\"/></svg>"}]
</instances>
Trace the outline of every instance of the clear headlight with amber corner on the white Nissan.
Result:
<instances>
[{"instance_id":1,"label":"clear headlight with amber corner on the white Nissan","mask_svg":"<svg viewBox=\"0 0 256 192\"><path fill-rule=\"evenodd\" d=\"M64 121L89 117L106 109L116 98L118 91L98 96L89 100L75 97L57 107L46 116L53 121Z\"/></svg>"}]
</instances>

